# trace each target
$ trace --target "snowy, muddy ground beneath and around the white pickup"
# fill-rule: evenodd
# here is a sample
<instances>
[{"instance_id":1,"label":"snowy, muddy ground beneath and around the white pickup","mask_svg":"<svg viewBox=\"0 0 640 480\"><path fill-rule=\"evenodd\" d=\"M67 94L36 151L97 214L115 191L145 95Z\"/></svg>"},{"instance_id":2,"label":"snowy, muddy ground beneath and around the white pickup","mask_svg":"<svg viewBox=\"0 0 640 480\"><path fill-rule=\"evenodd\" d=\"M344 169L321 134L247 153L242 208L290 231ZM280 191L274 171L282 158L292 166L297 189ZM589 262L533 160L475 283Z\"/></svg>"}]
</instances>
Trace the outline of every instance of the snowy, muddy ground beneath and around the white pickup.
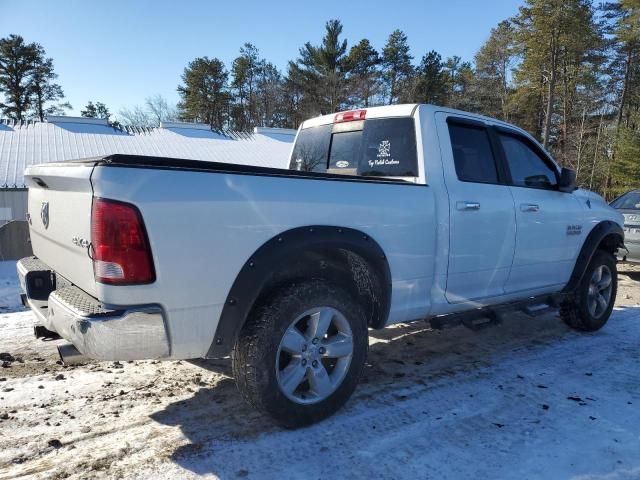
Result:
<instances>
[{"instance_id":1,"label":"snowy, muddy ground beneath and around the white pickup","mask_svg":"<svg viewBox=\"0 0 640 480\"><path fill-rule=\"evenodd\" d=\"M297 431L245 406L227 361L60 365L0 277L0 479L640 478L637 270L594 334L520 315L372 332L353 399Z\"/></svg>"}]
</instances>

